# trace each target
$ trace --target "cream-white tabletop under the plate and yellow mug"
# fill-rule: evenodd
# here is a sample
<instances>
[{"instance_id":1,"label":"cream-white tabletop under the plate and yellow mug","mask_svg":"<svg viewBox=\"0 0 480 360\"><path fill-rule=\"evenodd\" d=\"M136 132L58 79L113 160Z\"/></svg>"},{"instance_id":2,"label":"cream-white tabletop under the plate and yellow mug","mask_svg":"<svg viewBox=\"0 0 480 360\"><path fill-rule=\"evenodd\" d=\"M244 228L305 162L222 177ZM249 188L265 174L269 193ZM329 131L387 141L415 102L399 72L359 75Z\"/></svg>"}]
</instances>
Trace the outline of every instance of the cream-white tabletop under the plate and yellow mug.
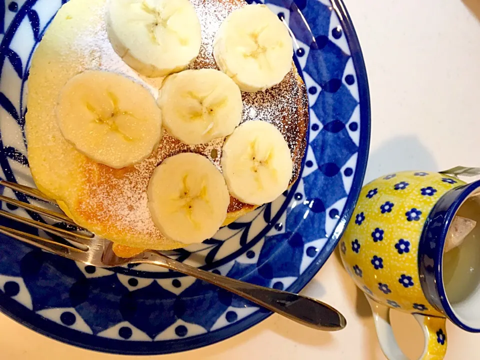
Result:
<instances>
[{"instance_id":1,"label":"cream-white tabletop under the plate and yellow mug","mask_svg":"<svg viewBox=\"0 0 480 360\"><path fill-rule=\"evenodd\" d=\"M365 181L390 171L480 166L480 0L345 0L365 57L371 94L371 146ZM326 262L303 290L347 318L339 332L319 332L279 315L179 359L384 359L371 311L339 262ZM422 334L395 312L405 353L421 353ZM447 326L447 359L480 359L480 334ZM0 314L1 360L117 360L51 340Z\"/></svg>"}]
</instances>

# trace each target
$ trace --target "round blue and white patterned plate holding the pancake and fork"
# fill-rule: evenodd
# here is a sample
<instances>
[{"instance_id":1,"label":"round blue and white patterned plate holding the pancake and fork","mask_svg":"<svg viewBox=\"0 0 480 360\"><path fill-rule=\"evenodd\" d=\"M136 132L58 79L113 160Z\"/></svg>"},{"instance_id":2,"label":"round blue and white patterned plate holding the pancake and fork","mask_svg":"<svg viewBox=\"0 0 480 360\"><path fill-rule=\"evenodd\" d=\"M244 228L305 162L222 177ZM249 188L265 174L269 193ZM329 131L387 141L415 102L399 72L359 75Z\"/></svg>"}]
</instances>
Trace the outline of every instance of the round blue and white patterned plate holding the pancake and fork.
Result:
<instances>
[{"instance_id":1,"label":"round blue and white patterned plate holding the pancake and fork","mask_svg":"<svg viewBox=\"0 0 480 360\"><path fill-rule=\"evenodd\" d=\"M0 4L0 177L8 181L33 184L23 136L28 67L62 2ZM295 64L308 88L310 131L301 176L273 203L170 255L223 275L298 291L333 251L355 205L368 153L368 85L340 0L265 2L291 28ZM6 188L0 193L28 200ZM34 216L4 203L2 208ZM3 218L1 223L14 225ZM124 354L204 346L269 315L175 272L146 265L84 266L5 236L0 236L0 309L60 341Z\"/></svg>"}]
</instances>

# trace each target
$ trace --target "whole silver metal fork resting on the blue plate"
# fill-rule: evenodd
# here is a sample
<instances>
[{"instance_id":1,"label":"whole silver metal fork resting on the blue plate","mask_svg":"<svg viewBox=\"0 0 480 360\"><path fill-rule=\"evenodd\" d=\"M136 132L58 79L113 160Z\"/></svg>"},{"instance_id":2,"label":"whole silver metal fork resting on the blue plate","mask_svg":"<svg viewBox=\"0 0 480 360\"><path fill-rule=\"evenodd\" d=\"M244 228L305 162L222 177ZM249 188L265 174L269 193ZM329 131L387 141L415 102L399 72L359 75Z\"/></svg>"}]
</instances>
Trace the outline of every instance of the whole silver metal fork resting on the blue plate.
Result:
<instances>
[{"instance_id":1,"label":"whole silver metal fork resting on the blue plate","mask_svg":"<svg viewBox=\"0 0 480 360\"><path fill-rule=\"evenodd\" d=\"M50 199L35 188L3 180L0 180L0 185L56 205L53 199ZM69 258L73 261L83 262L97 267L115 267L131 263L157 265L207 281L234 294L242 296L270 311L276 312L293 321L315 329L335 331L346 326L346 320L340 312L330 305L311 297L258 286L227 276L218 275L213 272L201 270L173 260L156 250L146 250L138 255L129 258L122 258L113 252L113 242L97 236L91 231L77 225L62 212L52 211L3 195L0 195L0 201L10 203L27 211L36 212L37 214L47 216L53 220L74 226L74 229L76 230L66 230L0 209L0 216L33 226L49 234L68 240L65 243L61 243L49 238L36 236L0 225L0 233L11 236L30 245L34 245L45 251Z\"/></svg>"}]
</instances>

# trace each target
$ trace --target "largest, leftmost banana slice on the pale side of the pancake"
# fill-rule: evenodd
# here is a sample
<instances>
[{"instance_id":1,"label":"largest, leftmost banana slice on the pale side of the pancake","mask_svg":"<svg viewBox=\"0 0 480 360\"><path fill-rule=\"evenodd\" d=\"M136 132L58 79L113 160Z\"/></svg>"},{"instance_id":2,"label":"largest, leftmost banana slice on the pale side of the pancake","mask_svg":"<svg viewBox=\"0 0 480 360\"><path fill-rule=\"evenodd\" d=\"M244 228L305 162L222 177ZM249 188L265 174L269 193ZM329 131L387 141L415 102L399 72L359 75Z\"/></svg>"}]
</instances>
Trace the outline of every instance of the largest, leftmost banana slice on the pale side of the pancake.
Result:
<instances>
[{"instance_id":1,"label":"largest, leftmost banana slice on the pale side of the pancake","mask_svg":"<svg viewBox=\"0 0 480 360\"><path fill-rule=\"evenodd\" d=\"M140 84L113 72L84 71L60 91L56 120L75 148L121 168L148 157L161 137L161 112Z\"/></svg>"}]
</instances>

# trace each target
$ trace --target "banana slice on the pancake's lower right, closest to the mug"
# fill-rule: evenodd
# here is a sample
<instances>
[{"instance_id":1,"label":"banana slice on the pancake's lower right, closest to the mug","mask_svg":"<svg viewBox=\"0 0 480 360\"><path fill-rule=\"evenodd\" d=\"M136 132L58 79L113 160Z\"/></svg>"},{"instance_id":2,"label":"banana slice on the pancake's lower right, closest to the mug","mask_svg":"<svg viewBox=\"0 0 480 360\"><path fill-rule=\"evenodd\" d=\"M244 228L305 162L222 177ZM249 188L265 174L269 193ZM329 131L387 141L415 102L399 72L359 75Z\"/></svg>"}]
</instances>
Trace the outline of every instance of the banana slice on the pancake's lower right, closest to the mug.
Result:
<instances>
[{"instance_id":1,"label":"banana slice on the pancake's lower right, closest to the mug","mask_svg":"<svg viewBox=\"0 0 480 360\"><path fill-rule=\"evenodd\" d=\"M265 121L246 121L223 144L221 168L230 194L261 205L288 188L293 162L278 129Z\"/></svg>"}]
</instances>

